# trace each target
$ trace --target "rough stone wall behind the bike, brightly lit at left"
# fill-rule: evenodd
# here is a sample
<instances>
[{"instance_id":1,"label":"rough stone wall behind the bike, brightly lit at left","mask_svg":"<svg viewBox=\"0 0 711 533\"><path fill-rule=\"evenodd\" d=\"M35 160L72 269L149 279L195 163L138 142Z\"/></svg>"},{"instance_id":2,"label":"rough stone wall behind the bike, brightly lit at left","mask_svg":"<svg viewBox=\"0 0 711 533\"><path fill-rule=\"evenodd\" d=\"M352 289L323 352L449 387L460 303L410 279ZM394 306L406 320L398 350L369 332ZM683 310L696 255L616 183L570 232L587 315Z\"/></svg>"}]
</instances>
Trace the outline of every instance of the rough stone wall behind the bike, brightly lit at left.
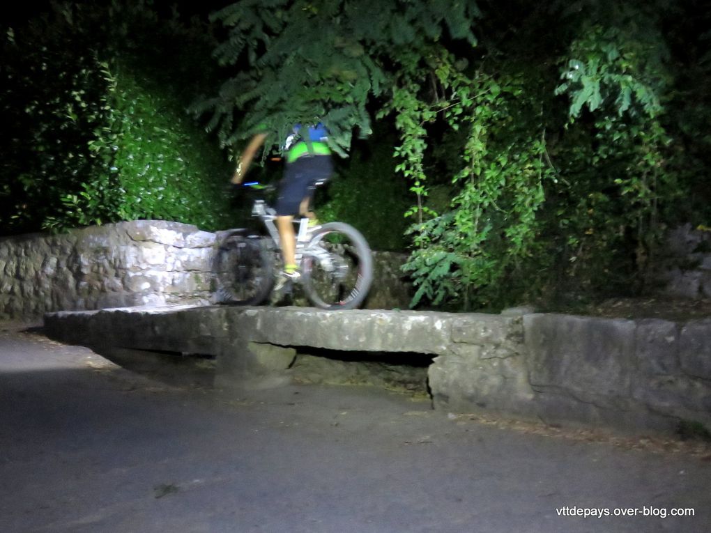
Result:
<instances>
[{"instance_id":1,"label":"rough stone wall behind the bike, brightly lit at left","mask_svg":"<svg viewBox=\"0 0 711 533\"><path fill-rule=\"evenodd\" d=\"M0 237L0 320L146 304L208 303L215 234L139 220ZM407 308L404 254L375 252L366 308Z\"/></svg>"}]
</instances>

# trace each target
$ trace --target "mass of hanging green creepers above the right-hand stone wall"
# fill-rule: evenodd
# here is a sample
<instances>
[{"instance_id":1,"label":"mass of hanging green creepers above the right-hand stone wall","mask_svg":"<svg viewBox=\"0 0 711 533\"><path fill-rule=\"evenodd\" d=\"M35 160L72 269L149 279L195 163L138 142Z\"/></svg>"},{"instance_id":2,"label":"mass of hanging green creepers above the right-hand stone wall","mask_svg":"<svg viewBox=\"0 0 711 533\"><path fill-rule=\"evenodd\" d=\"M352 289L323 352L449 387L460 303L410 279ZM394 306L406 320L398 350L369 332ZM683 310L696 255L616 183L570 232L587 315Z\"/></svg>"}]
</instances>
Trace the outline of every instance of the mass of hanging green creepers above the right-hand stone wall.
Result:
<instances>
[{"instance_id":1,"label":"mass of hanging green creepers above the right-hand stone wall","mask_svg":"<svg viewBox=\"0 0 711 533\"><path fill-rule=\"evenodd\" d=\"M501 308L564 292L629 294L650 283L662 222L688 190L670 164L672 75L659 19L640 6L589 14L582 24L564 14L575 31L547 36L546 62L523 45L550 25L536 15L524 18L521 41L508 49L492 47L461 72L439 56L395 94L400 168L414 178L418 200L405 266L418 287L413 304ZM555 91L552 60L564 65ZM417 82L427 68L437 75L436 98ZM567 114L556 95L570 98ZM460 133L447 145L464 168L425 164L425 140L436 139L442 122ZM433 170L453 176L458 191L444 212L427 201Z\"/></svg>"}]
</instances>

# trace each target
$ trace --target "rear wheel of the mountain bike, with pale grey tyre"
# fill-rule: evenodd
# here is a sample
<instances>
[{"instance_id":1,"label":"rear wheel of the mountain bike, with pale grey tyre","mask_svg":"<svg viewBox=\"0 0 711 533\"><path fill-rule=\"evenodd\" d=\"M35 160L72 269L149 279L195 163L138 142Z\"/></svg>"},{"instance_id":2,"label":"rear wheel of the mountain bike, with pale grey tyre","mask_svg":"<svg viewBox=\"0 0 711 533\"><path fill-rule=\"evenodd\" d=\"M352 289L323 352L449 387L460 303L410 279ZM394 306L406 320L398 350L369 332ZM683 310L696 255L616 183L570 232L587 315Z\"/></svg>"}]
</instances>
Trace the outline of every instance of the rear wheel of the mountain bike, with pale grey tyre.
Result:
<instances>
[{"instance_id":1,"label":"rear wheel of the mountain bike, with pale grey tyre","mask_svg":"<svg viewBox=\"0 0 711 533\"><path fill-rule=\"evenodd\" d=\"M306 297L328 311L357 308L373 283L373 255L368 242L355 227L343 222L329 222L314 232L301 269ZM326 291L328 295L322 294Z\"/></svg>"}]
</instances>

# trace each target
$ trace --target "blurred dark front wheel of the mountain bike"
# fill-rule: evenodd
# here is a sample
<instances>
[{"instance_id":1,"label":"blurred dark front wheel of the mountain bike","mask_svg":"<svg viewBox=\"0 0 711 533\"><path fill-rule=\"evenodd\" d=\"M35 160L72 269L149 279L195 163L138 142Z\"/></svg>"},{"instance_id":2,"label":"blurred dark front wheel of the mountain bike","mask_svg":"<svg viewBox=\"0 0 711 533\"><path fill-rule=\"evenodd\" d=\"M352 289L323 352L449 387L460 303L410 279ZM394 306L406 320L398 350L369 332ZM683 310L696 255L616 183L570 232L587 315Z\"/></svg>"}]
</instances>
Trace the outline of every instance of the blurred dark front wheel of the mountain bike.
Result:
<instances>
[{"instance_id":1,"label":"blurred dark front wheel of the mountain bike","mask_svg":"<svg viewBox=\"0 0 711 533\"><path fill-rule=\"evenodd\" d=\"M272 257L259 237L232 235L215 254L215 300L235 306L257 306L272 291Z\"/></svg>"}]
</instances>

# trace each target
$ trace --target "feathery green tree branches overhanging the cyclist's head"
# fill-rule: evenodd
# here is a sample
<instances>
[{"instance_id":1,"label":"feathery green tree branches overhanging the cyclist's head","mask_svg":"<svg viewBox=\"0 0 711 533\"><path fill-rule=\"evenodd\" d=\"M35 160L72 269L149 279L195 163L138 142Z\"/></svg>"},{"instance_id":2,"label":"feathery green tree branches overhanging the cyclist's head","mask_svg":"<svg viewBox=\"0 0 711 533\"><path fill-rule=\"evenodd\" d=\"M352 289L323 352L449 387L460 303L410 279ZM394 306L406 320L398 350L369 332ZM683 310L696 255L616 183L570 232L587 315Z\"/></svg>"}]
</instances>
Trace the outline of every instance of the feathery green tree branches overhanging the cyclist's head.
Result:
<instances>
[{"instance_id":1,"label":"feathery green tree branches overhanging the cyclist's head","mask_svg":"<svg viewBox=\"0 0 711 533\"><path fill-rule=\"evenodd\" d=\"M237 73L196 112L212 112L224 146L255 131L277 151L296 123L321 121L345 155L371 132L368 103L387 97L403 61L447 32L474 40L471 0L244 0L213 16L229 28L216 50ZM237 122L236 117L240 117Z\"/></svg>"}]
</instances>

